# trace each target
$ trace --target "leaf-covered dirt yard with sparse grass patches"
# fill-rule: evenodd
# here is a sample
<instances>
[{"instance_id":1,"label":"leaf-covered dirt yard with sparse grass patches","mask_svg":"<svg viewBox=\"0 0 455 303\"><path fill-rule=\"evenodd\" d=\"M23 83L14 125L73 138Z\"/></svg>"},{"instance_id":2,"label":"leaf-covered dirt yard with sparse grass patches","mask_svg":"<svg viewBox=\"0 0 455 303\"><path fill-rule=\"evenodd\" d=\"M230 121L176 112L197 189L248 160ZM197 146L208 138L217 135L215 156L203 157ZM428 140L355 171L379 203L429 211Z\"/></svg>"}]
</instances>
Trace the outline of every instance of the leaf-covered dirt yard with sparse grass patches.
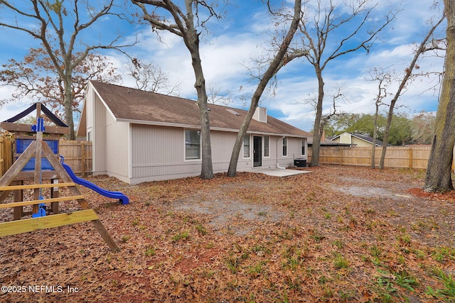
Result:
<instances>
[{"instance_id":1,"label":"leaf-covered dirt yard with sparse grass patches","mask_svg":"<svg viewBox=\"0 0 455 303\"><path fill-rule=\"evenodd\" d=\"M88 177L129 196L80 187L121 252L91 223L1 238L0 302L455 302L453 193L420 170L307 170Z\"/></svg>"}]
</instances>

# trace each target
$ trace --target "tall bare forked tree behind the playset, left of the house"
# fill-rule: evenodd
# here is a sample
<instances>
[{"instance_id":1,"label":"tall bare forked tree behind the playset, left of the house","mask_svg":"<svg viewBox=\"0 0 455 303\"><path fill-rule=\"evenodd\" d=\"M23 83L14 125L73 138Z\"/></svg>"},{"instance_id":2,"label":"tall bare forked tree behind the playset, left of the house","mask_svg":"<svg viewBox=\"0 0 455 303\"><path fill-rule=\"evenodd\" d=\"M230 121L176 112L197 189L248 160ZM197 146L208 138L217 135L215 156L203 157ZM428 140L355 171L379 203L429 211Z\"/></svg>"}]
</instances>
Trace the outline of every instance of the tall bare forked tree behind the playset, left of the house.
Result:
<instances>
[{"instance_id":1,"label":"tall bare forked tree behind the playset, left of the house","mask_svg":"<svg viewBox=\"0 0 455 303\"><path fill-rule=\"evenodd\" d=\"M90 2L90 4L89 4ZM114 0L97 4L88 0L73 1L6 1L0 0L0 11L10 18L2 18L0 26L28 33L40 41L43 49L50 57L55 72L63 82L65 122L70 127L69 138L75 138L73 121L73 71L89 53L97 49L119 49L127 45L119 45L120 35L115 35L109 43L89 44L82 36L90 31L93 24L105 16L116 16ZM81 50L77 48L81 47ZM75 52L78 55L75 56Z\"/></svg>"}]
</instances>

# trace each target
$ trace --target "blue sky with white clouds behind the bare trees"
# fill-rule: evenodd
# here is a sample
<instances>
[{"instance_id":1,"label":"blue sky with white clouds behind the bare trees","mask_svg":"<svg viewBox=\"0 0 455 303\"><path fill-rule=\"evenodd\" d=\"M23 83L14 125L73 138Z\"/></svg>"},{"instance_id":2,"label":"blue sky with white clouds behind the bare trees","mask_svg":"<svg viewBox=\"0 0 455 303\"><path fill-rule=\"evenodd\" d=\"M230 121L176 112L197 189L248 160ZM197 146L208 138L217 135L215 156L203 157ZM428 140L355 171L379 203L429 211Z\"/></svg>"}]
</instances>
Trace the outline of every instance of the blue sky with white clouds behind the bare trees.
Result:
<instances>
[{"instance_id":1,"label":"blue sky with white clouds behind the bare trees","mask_svg":"<svg viewBox=\"0 0 455 303\"><path fill-rule=\"evenodd\" d=\"M275 1L279 3L280 1ZM289 1L288 1L289 2ZM328 2L322 0L323 3ZM336 1L333 1L336 2ZM306 11L314 11L316 1L309 1ZM405 0L380 1L370 22L380 22L390 9L400 9L397 19L380 35L370 53L358 50L355 53L339 57L326 67L324 82L326 83L326 101L324 114L331 111L331 94L337 87L341 88L343 98L337 100L337 111L348 113L373 114L375 110L374 98L377 94L377 83L367 81L373 68L394 72L397 77L402 75L414 55L415 43L419 43L429 28L429 20L438 19L441 7L432 8L432 0ZM288 3L289 5L289 3ZM442 5L442 4L440 4ZM398 7L400 6L400 7ZM229 106L247 109L242 99L250 96L255 89L255 82L250 78L247 67L252 67L252 57L264 53L269 47L269 30L271 29L266 7L261 1L237 1L227 6L227 15L223 21L210 21L210 33L203 33L200 45L203 69L208 87L218 89L220 93L230 94L232 102ZM0 10L0 18L11 18ZM311 17L312 18L312 17ZM129 25L119 23L114 18L104 18L97 23L96 28L90 31L86 39L108 38L109 31L121 31L126 40L132 40L135 35L139 43L127 50L144 62L151 62L166 72L169 83L180 83L179 95L188 99L196 98L193 87L194 74L191 67L191 58L183 45L181 38L170 33L162 33L159 43L156 34L150 26ZM438 33L444 36L445 24ZM343 33L340 33L342 36ZM12 38L14 37L14 38ZM338 37L334 37L336 40ZM38 41L24 33L0 29L0 64L3 65L10 58L21 60L30 47L38 47ZM330 48L331 45L328 45ZM134 87L134 82L126 74L129 62L121 53L104 53L112 60L117 71L123 75L122 84ZM420 71L443 70L444 60L436 56L424 57L420 62ZM267 107L268 113L282 119L293 126L305 131L311 131L314 123L314 107L308 100L313 99L316 91L316 76L313 67L304 59L290 62L277 75L278 86L274 97L264 95L261 106ZM439 90L430 89L437 78L434 76L422 77L414 80L405 94L400 97L399 111L410 114L419 111L436 111ZM395 92L395 86L388 89ZM11 89L0 87L0 99L9 98ZM389 98L390 99L390 98ZM387 101L387 99L385 100ZM25 109L31 100L6 104L0 109L0 121L14 116ZM386 110L385 107L382 108Z\"/></svg>"}]
</instances>

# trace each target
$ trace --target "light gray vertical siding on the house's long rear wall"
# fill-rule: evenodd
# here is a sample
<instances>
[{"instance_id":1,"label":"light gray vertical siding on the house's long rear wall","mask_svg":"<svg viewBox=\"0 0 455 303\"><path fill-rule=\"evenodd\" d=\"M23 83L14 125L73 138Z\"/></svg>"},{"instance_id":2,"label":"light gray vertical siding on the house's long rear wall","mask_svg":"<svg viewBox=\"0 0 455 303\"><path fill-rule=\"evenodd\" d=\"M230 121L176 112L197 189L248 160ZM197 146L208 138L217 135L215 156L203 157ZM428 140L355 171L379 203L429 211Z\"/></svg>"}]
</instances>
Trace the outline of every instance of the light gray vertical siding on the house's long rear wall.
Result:
<instances>
[{"instance_id":1,"label":"light gray vertical siding on the house's long rear wall","mask_svg":"<svg viewBox=\"0 0 455 303\"><path fill-rule=\"evenodd\" d=\"M200 160L185 160L183 128L132 124L132 177L129 183L168 180L200 175ZM262 136L262 135L255 135ZM213 172L228 171L232 148L237 133L210 133ZM263 149L262 149L263 150ZM282 137L269 136L269 157L262 158L262 167L294 165L294 158L302 158L301 138L288 138L288 155L282 156ZM277 159L278 155L278 159ZM252 158L240 155L237 171L252 170ZM123 178L119 178L123 180Z\"/></svg>"}]
</instances>

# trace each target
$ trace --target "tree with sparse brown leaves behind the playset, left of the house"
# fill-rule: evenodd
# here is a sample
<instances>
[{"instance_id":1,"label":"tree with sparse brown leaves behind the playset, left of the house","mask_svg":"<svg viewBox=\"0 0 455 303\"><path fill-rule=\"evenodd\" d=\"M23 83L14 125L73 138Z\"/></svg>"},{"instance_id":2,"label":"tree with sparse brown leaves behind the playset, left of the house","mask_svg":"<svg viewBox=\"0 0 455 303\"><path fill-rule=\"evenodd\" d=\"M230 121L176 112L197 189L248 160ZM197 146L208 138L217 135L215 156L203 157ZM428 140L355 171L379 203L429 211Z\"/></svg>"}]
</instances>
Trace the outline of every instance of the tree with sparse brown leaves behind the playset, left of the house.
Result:
<instances>
[{"instance_id":1,"label":"tree with sparse brown leaves behind the playset, left of the house","mask_svg":"<svg viewBox=\"0 0 455 303\"><path fill-rule=\"evenodd\" d=\"M75 57L81 56L75 53ZM119 82L122 76L107 57L89 53L72 72L71 92L73 93L72 111L80 114L89 80ZM56 116L65 115L65 87L63 79L43 48L31 48L22 61L10 59L1 66L0 85L14 87L11 99L0 100L0 104L28 97L48 107Z\"/></svg>"}]
</instances>

